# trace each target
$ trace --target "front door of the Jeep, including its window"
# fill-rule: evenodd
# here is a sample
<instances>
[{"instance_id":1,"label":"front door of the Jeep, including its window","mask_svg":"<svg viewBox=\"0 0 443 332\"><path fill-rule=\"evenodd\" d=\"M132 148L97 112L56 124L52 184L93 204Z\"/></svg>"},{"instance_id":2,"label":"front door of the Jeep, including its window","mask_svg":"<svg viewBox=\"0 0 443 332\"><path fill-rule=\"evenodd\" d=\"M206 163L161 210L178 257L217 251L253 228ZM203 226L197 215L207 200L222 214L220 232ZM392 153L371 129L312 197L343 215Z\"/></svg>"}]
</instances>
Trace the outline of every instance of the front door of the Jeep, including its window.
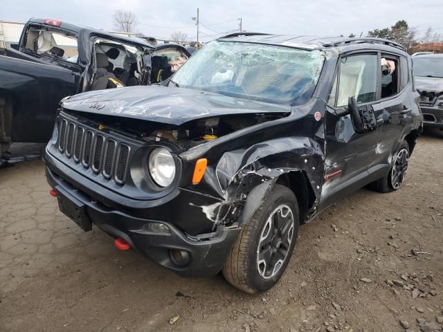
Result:
<instances>
[{"instance_id":1,"label":"front door of the Jeep, including its window","mask_svg":"<svg viewBox=\"0 0 443 332\"><path fill-rule=\"evenodd\" d=\"M358 133L347 107L354 97L359 109L377 102L379 59L377 53L353 53L341 57L327 100L325 115L325 183L320 205L326 208L365 185L374 162L378 130Z\"/></svg>"}]
</instances>

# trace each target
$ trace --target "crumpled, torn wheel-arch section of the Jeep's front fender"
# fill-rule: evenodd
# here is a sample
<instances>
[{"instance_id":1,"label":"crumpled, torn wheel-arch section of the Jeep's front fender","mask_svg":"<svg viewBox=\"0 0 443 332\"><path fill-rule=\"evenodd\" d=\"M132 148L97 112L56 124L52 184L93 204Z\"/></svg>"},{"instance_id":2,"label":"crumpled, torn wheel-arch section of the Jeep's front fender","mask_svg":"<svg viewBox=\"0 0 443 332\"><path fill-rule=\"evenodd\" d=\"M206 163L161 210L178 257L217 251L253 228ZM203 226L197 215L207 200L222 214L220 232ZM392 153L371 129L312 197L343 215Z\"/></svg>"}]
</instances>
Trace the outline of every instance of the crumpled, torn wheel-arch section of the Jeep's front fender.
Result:
<instances>
[{"instance_id":1,"label":"crumpled, torn wheel-arch section of the Jeep's front fender","mask_svg":"<svg viewBox=\"0 0 443 332\"><path fill-rule=\"evenodd\" d=\"M206 187L213 187L220 202L199 208L214 222L214 227L243 225L280 176L302 172L314 193L308 209L315 209L323 184L324 160L318 142L302 137L278 138L228 151L215 169L208 168L205 175Z\"/></svg>"}]
</instances>

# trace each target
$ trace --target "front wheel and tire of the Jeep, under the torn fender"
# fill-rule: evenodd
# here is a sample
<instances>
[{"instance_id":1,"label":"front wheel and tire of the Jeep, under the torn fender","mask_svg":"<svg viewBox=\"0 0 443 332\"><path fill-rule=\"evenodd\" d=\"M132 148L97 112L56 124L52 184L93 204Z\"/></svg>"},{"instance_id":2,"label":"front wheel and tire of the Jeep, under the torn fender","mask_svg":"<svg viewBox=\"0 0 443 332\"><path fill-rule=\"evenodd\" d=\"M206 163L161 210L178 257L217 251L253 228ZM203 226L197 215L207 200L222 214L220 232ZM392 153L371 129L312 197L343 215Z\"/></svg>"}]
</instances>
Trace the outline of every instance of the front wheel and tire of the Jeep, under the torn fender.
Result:
<instances>
[{"instance_id":1,"label":"front wheel and tire of the Jeep, under the torn fender","mask_svg":"<svg viewBox=\"0 0 443 332\"><path fill-rule=\"evenodd\" d=\"M225 279L246 293L274 286L287 267L298 234L296 196L274 185L260 207L244 225L225 261Z\"/></svg>"}]
</instances>

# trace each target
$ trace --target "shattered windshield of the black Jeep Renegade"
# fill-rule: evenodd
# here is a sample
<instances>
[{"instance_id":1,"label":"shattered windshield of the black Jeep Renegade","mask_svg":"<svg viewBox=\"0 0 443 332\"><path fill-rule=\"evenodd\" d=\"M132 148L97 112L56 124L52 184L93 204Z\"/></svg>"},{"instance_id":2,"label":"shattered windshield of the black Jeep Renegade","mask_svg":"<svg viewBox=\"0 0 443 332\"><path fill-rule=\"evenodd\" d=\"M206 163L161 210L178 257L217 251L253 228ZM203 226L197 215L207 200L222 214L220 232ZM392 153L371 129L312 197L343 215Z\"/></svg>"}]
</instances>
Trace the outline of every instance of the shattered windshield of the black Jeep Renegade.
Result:
<instances>
[{"instance_id":1,"label":"shattered windshield of the black Jeep Renegade","mask_svg":"<svg viewBox=\"0 0 443 332\"><path fill-rule=\"evenodd\" d=\"M316 87L320 50L210 42L172 77L177 86L278 104L303 104Z\"/></svg>"}]
</instances>

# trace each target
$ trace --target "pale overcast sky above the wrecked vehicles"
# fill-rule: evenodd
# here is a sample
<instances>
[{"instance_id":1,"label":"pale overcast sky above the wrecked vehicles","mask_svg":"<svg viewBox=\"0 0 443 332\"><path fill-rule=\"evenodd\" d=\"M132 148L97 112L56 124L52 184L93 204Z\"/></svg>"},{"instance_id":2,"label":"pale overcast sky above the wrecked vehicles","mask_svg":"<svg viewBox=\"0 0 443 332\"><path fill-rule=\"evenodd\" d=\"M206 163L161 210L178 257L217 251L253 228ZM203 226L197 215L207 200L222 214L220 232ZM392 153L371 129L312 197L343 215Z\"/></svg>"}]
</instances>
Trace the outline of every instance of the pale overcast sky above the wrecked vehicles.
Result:
<instances>
[{"instance_id":1,"label":"pale overcast sky above the wrecked vehicles","mask_svg":"<svg viewBox=\"0 0 443 332\"><path fill-rule=\"evenodd\" d=\"M181 31L195 40L197 8L203 41L238 31L239 17L244 30L261 33L365 36L405 19L419 33L431 26L443 34L443 0L0 0L0 7L0 21L49 18L105 30L113 30L115 10L130 10L137 32L158 39Z\"/></svg>"}]
</instances>

